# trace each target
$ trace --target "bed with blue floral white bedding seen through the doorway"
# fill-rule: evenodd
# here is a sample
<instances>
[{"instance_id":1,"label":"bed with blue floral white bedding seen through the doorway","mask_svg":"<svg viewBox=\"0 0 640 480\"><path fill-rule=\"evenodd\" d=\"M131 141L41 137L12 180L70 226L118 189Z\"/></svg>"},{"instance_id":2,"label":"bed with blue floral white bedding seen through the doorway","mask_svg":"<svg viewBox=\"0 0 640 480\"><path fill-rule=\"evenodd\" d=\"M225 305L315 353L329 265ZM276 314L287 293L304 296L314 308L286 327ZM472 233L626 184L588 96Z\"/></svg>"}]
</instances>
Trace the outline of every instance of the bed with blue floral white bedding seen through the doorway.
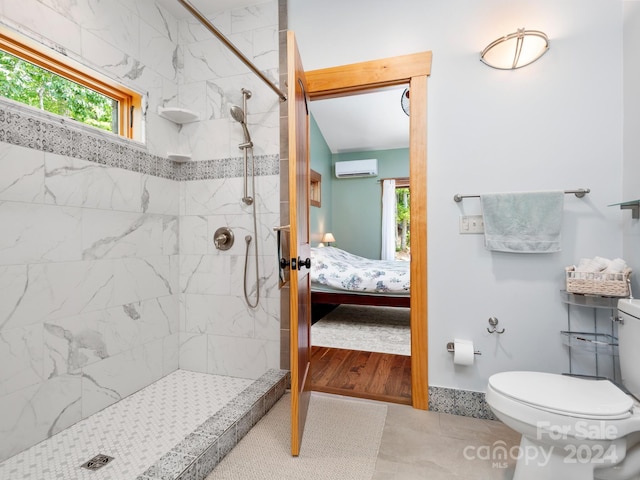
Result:
<instances>
[{"instance_id":1,"label":"bed with blue floral white bedding seen through the doorway","mask_svg":"<svg viewBox=\"0 0 640 480\"><path fill-rule=\"evenodd\" d=\"M371 260L336 247L311 249L313 303L408 307L409 262Z\"/></svg>"}]
</instances>

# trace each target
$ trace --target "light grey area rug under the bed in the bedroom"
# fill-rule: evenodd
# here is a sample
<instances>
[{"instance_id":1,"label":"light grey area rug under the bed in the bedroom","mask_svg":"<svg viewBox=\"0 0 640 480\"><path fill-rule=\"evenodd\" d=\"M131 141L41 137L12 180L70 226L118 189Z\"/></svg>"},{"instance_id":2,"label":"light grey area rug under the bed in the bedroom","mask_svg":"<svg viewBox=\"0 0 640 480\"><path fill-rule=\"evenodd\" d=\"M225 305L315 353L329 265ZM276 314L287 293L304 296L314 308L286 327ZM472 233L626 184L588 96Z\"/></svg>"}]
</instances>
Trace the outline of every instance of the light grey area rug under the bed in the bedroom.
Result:
<instances>
[{"instance_id":1,"label":"light grey area rug under the bed in the bedroom","mask_svg":"<svg viewBox=\"0 0 640 480\"><path fill-rule=\"evenodd\" d=\"M311 327L311 344L411 355L410 309L340 305Z\"/></svg>"}]
</instances>

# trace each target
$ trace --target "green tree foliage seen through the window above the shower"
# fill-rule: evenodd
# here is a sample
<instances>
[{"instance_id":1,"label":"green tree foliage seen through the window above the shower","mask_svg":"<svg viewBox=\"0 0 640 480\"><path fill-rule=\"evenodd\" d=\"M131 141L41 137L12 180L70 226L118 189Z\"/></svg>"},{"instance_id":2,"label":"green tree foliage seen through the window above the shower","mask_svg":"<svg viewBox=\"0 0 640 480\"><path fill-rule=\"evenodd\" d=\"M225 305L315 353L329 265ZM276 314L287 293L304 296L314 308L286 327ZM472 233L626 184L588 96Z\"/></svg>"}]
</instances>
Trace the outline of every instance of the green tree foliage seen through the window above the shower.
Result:
<instances>
[{"instance_id":1,"label":"green tree foliage seen through the window above the shower","mask_svg":"<svg viewBox=\"0 0 640 480\"><path fill-rule=\"evenodd\" d=\"M118 133L118 102L0 50L0 95Z\"/></svg>"}]
</instances>

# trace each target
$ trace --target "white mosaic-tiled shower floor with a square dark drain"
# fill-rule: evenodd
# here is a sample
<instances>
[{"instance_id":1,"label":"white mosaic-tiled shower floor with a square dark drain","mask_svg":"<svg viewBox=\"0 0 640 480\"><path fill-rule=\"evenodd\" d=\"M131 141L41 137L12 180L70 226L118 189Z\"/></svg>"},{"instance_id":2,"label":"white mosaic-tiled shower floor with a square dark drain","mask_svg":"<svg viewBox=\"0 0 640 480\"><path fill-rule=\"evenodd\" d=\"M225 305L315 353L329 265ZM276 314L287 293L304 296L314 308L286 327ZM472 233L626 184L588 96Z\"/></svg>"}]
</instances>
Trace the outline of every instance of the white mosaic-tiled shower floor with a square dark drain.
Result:
<instances>
[{"instance_id":1,"label":"white mosaic-tiled shower floor with a square dark drain","mask_svg":"<svg viewBox=\"0 0 640 480\"><path fill-rule=\"evenodd\" d=\"M177 370L0 463L0 480L134 480L252 382ZM114 460L80 467L98 454Z\"/></svg>"}]
</instances>

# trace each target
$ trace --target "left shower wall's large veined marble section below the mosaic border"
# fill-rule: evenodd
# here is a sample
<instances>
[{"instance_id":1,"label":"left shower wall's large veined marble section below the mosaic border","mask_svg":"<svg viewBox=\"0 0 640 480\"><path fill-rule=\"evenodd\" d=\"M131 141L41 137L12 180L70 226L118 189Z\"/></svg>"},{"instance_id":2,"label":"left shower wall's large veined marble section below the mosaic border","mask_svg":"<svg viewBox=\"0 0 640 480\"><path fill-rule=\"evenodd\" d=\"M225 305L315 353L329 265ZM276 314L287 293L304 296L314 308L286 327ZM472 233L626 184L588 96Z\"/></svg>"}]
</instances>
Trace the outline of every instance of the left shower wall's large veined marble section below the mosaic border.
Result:
<instances>
[{"instance_id":1,"label":"left shower wall's large veined marble section below the mosaic border","mask_svg":"<svg viewBox=\"0 0 640 480\"><path fill-rule=\"evenodd\" d=\"M0 143L0 458L178 367L178 189Z\"/></svg>"}]
</instances>

